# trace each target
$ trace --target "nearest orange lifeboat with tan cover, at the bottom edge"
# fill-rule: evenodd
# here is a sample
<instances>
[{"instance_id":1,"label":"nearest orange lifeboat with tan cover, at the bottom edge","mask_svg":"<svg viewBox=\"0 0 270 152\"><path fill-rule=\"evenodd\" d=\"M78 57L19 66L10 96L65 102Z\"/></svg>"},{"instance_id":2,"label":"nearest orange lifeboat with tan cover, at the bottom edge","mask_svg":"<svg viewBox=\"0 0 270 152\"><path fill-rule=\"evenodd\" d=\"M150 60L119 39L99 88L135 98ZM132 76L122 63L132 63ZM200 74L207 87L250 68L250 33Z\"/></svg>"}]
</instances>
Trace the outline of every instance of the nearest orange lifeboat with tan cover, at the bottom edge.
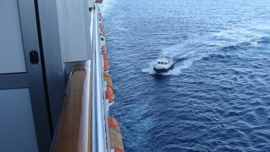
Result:
<instances>
[{"instance_id":1,"label":"nearest orange lifeboat with tan cover, at the bottom edge","mask_svg":"<svg viewBox=\"0 0 270 152\"><path fill-rule=\"evenodd\" d=\"M108 117L108 126L111 152L124 152L122 135L118 121L113 117Z\"/></svg>"}]
</instances>

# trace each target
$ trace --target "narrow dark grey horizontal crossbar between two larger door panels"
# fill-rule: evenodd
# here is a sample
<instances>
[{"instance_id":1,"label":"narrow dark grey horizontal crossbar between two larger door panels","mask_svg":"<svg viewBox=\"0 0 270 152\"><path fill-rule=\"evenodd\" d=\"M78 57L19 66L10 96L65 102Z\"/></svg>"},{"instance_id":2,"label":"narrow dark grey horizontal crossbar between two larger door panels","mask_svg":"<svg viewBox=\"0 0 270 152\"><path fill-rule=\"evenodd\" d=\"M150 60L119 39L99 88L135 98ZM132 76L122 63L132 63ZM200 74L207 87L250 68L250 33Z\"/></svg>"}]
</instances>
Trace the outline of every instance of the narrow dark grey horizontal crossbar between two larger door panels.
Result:
<instances>
[{"instance_id":1,"label":"narrow dark grey horizontal crossbar between two larger door panels","mask_svg":"<svg viewBox=\"0 0 270 152\"><path fill-rule=\"evenodd\" d=\"M0 90L16 88L29 88L27 73L0 75Z\"/></svg>"}]
</instances>

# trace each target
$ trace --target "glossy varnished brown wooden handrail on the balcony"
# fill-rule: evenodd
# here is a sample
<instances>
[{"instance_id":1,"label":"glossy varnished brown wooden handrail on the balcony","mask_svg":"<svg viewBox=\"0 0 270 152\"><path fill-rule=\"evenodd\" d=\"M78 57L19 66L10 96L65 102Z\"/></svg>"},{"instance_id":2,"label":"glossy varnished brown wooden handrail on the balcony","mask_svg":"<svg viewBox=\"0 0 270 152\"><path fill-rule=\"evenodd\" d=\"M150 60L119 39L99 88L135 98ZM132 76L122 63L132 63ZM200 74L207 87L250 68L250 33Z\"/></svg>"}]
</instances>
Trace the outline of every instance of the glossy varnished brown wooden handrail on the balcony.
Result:
<instances>
[{"instance_id":1,"label":"glossy varnished brown wooden handrail on the balcony","mask_svg":"<svg viewBox=\"0 0 270 152\"><path fill-rule=\"evenodd\" d=\"M51 152L92 151L92 63L71 67Z\"/></svg>"}]
</instances>

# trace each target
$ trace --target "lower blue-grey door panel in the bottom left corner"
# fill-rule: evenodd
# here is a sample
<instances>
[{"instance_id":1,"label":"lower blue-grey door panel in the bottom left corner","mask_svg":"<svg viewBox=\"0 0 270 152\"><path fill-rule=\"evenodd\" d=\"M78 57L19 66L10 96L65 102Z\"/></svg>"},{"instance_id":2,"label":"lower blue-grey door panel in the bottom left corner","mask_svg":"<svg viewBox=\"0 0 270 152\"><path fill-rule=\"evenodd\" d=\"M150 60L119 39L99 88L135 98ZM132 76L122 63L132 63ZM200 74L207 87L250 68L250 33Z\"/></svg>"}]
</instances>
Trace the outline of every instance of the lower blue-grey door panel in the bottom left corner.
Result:
<instances>
[{"instance_id":1,"label":"lower blue-grey door panel in the bottom left corner","mask_svg":"<svg viewBox=\"0 0 270 152\"><path fill-rule=\"evenodd\" d=\"M0 90L0 151L38 152L28 88Z\"/></svg>"}]
</instances>

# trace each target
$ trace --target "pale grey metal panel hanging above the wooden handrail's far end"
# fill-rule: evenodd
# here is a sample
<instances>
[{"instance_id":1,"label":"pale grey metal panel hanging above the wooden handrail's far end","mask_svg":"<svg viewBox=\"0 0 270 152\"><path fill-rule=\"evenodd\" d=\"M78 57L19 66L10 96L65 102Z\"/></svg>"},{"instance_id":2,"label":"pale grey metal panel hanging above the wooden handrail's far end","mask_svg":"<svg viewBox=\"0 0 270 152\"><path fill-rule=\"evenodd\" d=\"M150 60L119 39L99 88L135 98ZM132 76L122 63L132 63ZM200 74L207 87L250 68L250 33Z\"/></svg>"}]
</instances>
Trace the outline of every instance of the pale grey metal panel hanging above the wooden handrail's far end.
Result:
<instances>
[{"instance_id":1,"label":"pale grey metal panel hanging above the wooden handrail's far end","mask_svg":"<svg viewBox=\"0 0 270 152\"><path fill-rule=\"evenodd\" d=\"M58 0L64 62L87 60L90 50L88 0Z\"/></svg>"}]
</instances>

